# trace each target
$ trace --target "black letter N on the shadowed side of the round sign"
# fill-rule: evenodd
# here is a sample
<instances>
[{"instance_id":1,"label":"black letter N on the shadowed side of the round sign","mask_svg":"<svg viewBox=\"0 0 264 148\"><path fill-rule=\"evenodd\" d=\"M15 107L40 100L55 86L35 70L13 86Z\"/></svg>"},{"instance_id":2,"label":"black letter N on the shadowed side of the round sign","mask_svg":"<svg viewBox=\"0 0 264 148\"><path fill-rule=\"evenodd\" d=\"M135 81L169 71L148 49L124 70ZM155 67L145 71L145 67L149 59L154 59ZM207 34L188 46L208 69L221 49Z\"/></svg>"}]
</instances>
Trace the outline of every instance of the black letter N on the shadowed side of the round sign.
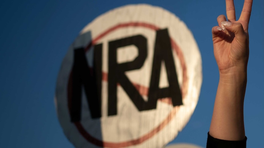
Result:
<instances>
[{"instance_id":1,"label":"black letter N on the shadowed side of the round sign","mask_svg":"<svg viewBox=\"0 0 264 148\"><path fill-rule=\"evenodd\" d=\"M76 122L81 120L82 86L85 90L91 117L101 117L102 44L94 47L93 70L89 69L84 48L74 50L72 78L71 121Z\"/></svg>"}]
</instances>

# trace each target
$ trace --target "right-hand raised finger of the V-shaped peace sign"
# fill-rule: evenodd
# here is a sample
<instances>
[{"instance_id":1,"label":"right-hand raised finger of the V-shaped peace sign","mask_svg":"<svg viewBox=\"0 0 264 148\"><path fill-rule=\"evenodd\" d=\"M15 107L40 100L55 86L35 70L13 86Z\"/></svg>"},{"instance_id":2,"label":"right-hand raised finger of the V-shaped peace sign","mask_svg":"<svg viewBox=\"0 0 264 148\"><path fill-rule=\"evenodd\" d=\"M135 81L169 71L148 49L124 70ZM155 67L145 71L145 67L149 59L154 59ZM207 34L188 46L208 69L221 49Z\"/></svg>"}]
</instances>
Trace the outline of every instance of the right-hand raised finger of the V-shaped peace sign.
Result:
<instances>
[{"instance_id":1,"label":"right-hand raised finger of the V-shaped peace sign","mask_svg":"<svg viewBox=\"0 0 264 148\"><path fill-rule=\"evenodd\" d=\"M245 0L239 20L249 22L253 0Z\"/></svg>"}]
</instances>

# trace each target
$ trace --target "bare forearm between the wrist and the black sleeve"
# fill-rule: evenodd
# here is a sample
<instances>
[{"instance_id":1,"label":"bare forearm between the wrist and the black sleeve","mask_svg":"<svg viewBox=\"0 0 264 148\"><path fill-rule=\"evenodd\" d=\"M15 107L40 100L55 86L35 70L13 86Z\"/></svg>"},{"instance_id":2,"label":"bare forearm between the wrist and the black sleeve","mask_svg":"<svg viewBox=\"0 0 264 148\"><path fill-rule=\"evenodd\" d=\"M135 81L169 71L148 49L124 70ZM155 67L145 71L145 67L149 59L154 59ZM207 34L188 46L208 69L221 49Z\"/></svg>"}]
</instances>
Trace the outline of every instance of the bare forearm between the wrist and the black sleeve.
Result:
<instances>
[{"instance_id":1,"label":"bare forearm between the wrist and the black sleeve","mask_svg":"<svg viewBox=\"0 0 264 148\"><path fill-rule=\"evenodd\" d=\"M245 139L243 105L247 85L247 70L221 74L209 133L217 139Z\"/></svg>"}]
</instances>

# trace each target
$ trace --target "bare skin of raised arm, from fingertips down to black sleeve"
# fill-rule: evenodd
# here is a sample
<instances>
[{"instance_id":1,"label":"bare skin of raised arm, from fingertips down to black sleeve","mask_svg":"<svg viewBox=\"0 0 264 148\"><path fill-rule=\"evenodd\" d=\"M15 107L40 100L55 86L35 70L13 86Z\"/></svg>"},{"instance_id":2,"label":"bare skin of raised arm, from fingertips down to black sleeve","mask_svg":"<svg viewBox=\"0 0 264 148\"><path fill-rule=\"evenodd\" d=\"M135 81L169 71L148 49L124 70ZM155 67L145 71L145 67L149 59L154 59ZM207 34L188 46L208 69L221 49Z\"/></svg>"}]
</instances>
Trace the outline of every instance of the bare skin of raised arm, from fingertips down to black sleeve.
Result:
<instances>
[{"instance_id":1,"label":"bare skin of raised arm, from fingertips down to black sleeve","mask_svg":"<svg viewBox=\"0 0 264 148\"><path fill-rule=\"evenodd\" d=\"M226 14L231 26L221 28L224 15L217 17L219 26L212 28L214 56L219 69L219 84L215 98L209 134L217 139L243 140L244 96L247 85L249 57L248 23L253 0L245 0L239 20L236 21L233 0L226 0Z\"/></svg>"}]
</instances>

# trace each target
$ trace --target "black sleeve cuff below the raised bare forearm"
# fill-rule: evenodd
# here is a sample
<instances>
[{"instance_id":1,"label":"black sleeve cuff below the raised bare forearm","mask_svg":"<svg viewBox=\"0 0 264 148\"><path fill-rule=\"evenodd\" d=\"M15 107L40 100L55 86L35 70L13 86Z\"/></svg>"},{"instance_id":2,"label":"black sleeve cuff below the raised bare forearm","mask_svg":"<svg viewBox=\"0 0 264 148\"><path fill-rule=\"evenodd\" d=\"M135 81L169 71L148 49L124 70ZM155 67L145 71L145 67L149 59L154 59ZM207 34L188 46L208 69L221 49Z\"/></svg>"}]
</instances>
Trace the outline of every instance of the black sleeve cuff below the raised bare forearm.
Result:
<instances>
[{"instance_id":1,"label":"black sleeve cuff below the raised bare forearm","mask_svg":"<svg viewBox=\"0 0 264 148\"><path fill-rule=\"evenodd\" d=\"M206 148L246 148L247 137L240 141L229 141L213 138L211 135L207 137Z\"/></svg>"}]
</instances>

